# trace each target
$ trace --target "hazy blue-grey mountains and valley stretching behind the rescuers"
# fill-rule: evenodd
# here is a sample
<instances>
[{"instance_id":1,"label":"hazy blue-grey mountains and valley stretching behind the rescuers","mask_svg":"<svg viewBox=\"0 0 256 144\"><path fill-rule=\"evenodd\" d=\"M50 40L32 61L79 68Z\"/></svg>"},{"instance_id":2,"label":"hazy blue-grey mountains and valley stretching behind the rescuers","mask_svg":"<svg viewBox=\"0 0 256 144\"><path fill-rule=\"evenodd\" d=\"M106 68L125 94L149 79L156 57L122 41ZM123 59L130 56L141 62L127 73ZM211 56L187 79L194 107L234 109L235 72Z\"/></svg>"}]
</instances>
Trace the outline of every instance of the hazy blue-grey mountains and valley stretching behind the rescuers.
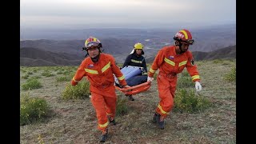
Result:
<instances>
[{"instance_id":1,"label":"hazy blue-grey mountains and valley stretching behind the rescuers","mask_svg":"<svg viewBox=\"0 0 256 144\"><path fill-rule=\"evenodd\" d=\"M126 56L134 49L136 42L142 42L145 46L143 49L145 52L144 56L146 60L151 62L158 53L158 50L163 46L174 44L173 37L177 31L112 28L56 30L49 33L44 32L42 36L35 34L34 39L23 39L20 41L21 66L78 65L86 55L86 51L82 51L82 46L84 46L85 39L89 36L98 38L102 42L104 53L112 54L118 63L125 61ZM216 52L218 56L214 56L215 50L222 48L229 50L229 47L234 47L235 51L235 24L204 27L190 31L193 32L192 35L195 40L194 44L190 46L190 50L194 52L195 57L198 59L230 57L226 52ZM230 53L233 54L233 52Z\"/></svg>"}]
</instances>

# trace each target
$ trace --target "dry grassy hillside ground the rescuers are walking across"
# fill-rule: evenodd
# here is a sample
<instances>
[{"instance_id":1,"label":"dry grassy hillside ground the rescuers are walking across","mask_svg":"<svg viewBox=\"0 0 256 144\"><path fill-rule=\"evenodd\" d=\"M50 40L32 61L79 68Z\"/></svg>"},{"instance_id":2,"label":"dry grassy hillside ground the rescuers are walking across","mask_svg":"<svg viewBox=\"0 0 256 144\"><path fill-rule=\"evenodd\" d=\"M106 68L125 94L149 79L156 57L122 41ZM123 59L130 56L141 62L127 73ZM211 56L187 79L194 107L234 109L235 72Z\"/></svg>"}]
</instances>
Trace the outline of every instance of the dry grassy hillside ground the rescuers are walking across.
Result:
<instances>
[{"instance_id":1,"label":"dry grassy hillside ground the rescuers are walking across","mask_svg":"<svg viewBox=\"0 0 256 144\"><path fill-rule=\"evenodd\" d=\"M236 82L224 79L236 66L236 60L196 64L202 78L199 94L212 104L208 109L193 114L173 111L166 118L165 129L160 130L151 122L158 105L156 80L148 91L134 95L135 101L128 101L117 90L128 112L117 116L118 124L110 126L106 143L236 143ZM45 98L53 114L46 122L20 126L20 143L98 143L100 132L96 129L97 119L90 99L61 98L76 69L77 66L21 67L21 95ZM22 90L29 78L37 78L42 87ZM64 80L59 81L61 78Z\"/></svg>"}]
</instances>

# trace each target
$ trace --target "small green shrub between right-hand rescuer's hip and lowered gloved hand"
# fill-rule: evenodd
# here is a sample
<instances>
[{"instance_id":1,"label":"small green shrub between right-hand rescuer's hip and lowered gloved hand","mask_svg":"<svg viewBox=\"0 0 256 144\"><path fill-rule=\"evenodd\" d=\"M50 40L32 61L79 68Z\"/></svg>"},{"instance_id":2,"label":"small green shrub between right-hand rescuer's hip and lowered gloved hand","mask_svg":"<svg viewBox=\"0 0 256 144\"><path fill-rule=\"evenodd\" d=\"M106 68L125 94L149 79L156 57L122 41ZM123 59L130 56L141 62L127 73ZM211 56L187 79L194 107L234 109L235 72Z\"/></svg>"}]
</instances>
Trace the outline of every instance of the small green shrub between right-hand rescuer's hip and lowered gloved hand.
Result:
<instances>
[{"instance_id":1,"label":"small green shrub between right-hand rescuer's hip and lowered gloved hand","mask_svg":"<svg viewBox=\"0 0 256 144\"><path fill-rule=\"evenodd\" d=\"M189 88L191 86L194 86L194 82L192 82L190 74L187 71L183 71L182 74L179 74L178 76L178 88Z\"/></svg>"}]
</instances>

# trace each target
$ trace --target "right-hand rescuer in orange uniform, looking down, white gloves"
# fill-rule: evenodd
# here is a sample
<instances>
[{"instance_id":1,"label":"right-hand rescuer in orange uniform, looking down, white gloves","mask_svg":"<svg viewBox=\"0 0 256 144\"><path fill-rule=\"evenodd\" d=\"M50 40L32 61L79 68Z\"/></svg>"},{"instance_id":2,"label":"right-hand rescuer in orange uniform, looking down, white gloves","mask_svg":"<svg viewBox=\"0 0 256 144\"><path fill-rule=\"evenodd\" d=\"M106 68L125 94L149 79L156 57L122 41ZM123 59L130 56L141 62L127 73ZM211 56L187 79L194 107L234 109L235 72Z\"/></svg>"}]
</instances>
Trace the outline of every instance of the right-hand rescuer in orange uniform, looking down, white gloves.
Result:
<instances>
[{"instance_id":1,"label":"right-hand rescuer in orange uniform, looking down, white gloves","mask_svg":"<svg viewBox=\"0 0 256 144\"><path fill-rule=\"evenodd\" d=\"M197 91L202 90L197 66L192 53L188 50L194 43L189 30L179 30L174 36L174 46L164 46L158 51L148 72L147 80L152 82L156 70L159 69L157 82L160 102L156 108L153 122L164 129L164 119L174 107L174 93L177 84L177 74L186 67Z\"/></svg>"}]
</instances>

